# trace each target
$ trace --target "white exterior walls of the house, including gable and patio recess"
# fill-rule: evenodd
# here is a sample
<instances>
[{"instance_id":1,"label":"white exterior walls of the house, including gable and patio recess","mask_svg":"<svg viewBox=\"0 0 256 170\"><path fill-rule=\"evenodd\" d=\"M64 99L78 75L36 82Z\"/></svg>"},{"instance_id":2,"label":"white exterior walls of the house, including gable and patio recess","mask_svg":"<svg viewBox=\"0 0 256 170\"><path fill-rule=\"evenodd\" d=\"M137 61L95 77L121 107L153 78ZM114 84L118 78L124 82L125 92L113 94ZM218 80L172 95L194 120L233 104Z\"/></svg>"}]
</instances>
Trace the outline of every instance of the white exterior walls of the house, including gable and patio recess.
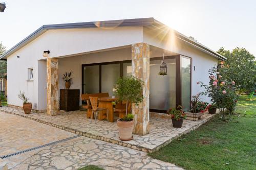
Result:
<instances>
[{"instance_id":1,"label":"white exterior walls of the house, including gable and patio recess","mask_svg":"<svg viewBox=\"0 0 256 170\"><path fill-rule=\"evenodd\" d=\"M155 35L156 32L142 27L49 30L7 58L8 104L22 106L22 101L17 98L19 90L22 90L29 96L33 109L46 109L46 61L42 57L43 51L49 50L49 57L59 58L59 88L64 88L62 74L73 71L71 88L81 92L81 64L131 60L131 47L86 53L139 42L193 58L192 67L196 66L196 70L192 72L192 94L202 91L196 82L208 82L207 70L217 64L217 58L185 44L172 33L164 38ZM60 58L63 56L66 57ZM34 81L27 81L28 68L34 69Z\"/></svg>"}]
</instances>

